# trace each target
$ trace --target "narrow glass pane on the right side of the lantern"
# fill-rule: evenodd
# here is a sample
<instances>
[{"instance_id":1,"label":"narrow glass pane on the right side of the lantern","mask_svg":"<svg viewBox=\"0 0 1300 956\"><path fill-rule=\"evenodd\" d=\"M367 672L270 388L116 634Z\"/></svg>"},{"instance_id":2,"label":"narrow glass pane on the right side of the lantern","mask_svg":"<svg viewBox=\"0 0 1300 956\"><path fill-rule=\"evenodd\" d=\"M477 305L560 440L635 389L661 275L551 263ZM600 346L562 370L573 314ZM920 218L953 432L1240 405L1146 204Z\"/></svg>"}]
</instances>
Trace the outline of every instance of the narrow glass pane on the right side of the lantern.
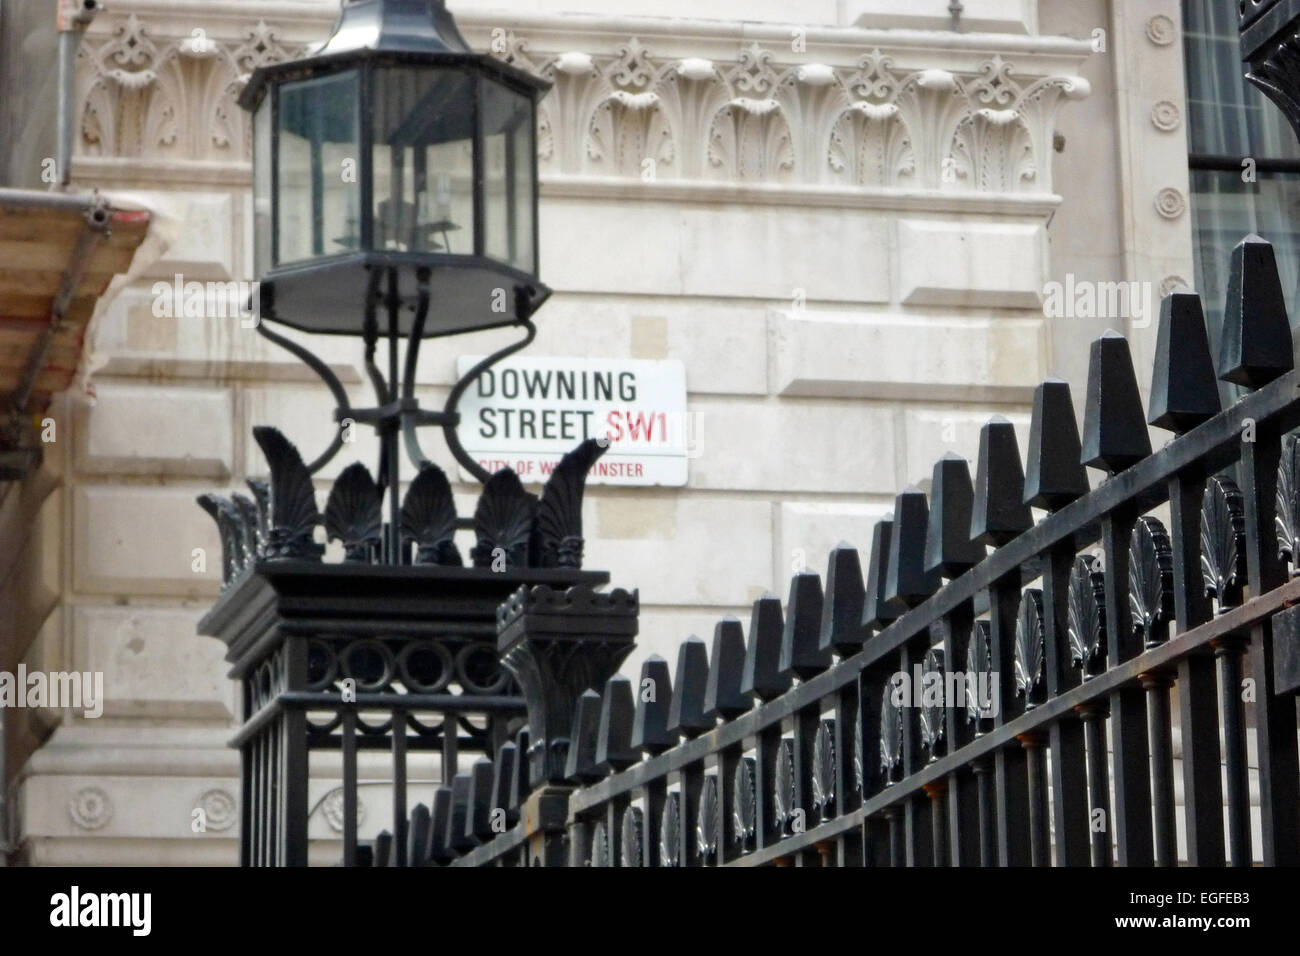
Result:
<instances>
[{"instance_id":1,"label":"narrow glass pane on the right side of the lantern","mask_svg":"<svg viewBox=\"0 0 1300 956\"><path fill-rule=\"evenodd\" d=\"M537 272L533 248L533 101L484 79L484 251Z\"/></svg>"}]
</instances>

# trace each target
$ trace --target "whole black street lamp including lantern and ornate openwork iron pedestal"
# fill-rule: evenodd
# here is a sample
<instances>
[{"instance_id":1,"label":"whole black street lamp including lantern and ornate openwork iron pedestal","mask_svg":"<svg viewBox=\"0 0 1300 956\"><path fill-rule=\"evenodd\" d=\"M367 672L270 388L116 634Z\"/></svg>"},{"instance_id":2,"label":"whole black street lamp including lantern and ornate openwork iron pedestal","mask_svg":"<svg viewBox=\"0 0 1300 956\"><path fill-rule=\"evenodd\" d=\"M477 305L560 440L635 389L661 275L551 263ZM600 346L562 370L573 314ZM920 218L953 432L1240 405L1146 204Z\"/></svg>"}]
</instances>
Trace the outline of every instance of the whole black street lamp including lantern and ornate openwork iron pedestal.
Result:
<instances>
[{"instance_id":1,"label":"whole black street lamp including lantern and ornate openwork iron pedestal","mask_svg":"<svg viewBox=\"0 0 1300 956\"><path fill-rule=\"evenodd\" d=\"M564 455L537 496L508 468L489 475L455 432L460 395L533 339L533 312L550 294L537 278L534 142L547 87L471 51L443 0L348 0L320 51L259 69L240 99L255 126L257 330L320 375L341 424L372 425L382 446L378 479L348 466L322 512L312 476L344 429L304 463L277 429L255 428L270 480L250 479L251 498L199 498L221 535L224 585L199 632L226 645L243 697L246 865L307 862L312 752L338 754L343 862L363 862L358 754L374 749L390 750L393 782L393 829L374 860L450 860L491 832L468 810L488 799L484 767L460 775L462 753L497 754L494 793L514 795L498 805L519 818L534 784L554 784L555 760L543 756L563 752L568 728L520 687L536 691L545 674L585 688L630 648L634 597L597 594L608 575L582 570L584 484L607 442L588 438ZM274 324L361 337L374 407L352 408L329 367ZM420 408L424 338L510 324L524 330L519 341L463 376L442 410ZM374 359L381 338L386 375ZM484 483L473 518L458 516L447 476L420 450L421 425L439 425ZM419 473L399 502L403 442ZM342 563L322 561L321 524L343 544ZM455 535L467 529L474 545L463 555ZM526 648L503 667L497 613L511 596L529 611L524 636L511 639ZM556 622L556 607L577 617ZM532 743L525 719L538 722ZM408 752L421 762L438 750L445 786L408 827ZM547 806L558 799L543 796Z\"/></svg>"}]
</instances>

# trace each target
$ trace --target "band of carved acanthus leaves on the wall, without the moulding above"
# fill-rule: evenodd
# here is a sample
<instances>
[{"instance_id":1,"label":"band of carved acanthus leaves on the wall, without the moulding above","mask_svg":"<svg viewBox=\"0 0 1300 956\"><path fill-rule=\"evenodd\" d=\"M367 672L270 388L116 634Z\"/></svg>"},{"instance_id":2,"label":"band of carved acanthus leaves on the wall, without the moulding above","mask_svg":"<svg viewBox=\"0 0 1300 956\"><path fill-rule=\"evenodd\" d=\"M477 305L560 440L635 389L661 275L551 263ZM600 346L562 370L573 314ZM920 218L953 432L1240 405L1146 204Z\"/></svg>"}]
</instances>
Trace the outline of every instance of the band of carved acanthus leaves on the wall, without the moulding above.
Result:
<instances>
[{"instance_id":1,"label":"band of carved acanthus leaves on the wall, without the moulding above","mask_svg":"<svg viewBox=\"0 0 1300 956\"><path fill-rule=\"evenodd\" d=\"M254 69L302 52L265 20L211 39L156 35L136 12L108 22L81 52L87 155L247 160L235 98ZM537 152L543 173L564 176L1049 193L1056 113L1088 94L1079 77L997 55L958 74L902 70L879 48L849 64L789 61L759 43L733 60L673 59L637 36L610 52L542 52L514 31L491 52L554 82Z\"/></svg>"}]
</instances>

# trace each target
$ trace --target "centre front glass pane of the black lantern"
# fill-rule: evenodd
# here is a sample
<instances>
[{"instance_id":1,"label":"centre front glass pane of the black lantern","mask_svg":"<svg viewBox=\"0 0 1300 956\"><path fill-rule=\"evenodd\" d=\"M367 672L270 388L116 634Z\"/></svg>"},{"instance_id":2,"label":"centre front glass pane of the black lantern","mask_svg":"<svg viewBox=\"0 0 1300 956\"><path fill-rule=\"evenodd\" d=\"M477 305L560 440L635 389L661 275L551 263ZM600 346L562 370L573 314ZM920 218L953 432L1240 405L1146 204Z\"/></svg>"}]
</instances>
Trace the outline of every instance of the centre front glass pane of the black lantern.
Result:
<instances>
[{"instance_id":1,"label":"centre front glass pane of the black lantern","mask_svg":"<svg viewBox=\"0 0 1300 956\"><path fill-rule=\"evenodd\" d=\"M372 103L374 248L473 255L473 77L381 68Z\"/></svg>"}]
</instances>

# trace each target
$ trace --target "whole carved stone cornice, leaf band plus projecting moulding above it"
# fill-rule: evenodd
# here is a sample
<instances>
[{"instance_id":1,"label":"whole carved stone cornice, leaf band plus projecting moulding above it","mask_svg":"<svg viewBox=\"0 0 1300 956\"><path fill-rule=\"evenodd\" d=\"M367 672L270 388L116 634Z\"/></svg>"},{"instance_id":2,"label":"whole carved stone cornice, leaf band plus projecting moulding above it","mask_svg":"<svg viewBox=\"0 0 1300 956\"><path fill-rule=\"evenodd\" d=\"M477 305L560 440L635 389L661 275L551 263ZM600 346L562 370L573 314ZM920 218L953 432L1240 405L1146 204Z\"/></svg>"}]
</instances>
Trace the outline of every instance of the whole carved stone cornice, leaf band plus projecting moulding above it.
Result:
<instances>
[{"instance_id":1,"label":"whole carved stone cornice, leaf band plus projecting moulding above it","mask_svg":"<svg viewBox=\"0 0 1300 956\"><path fill-rule=\"evenodd\" d=\"M234 96L324 39L333 3L122 0L83 44L79 153L247 163ZM1052 200L1056 113L1088 94L1084 40L465 12L472 44L554 82L551 193L705 183ZM680 190L679 190L680 191ZM647 190L649 193L649 190ZM910 204L911 199L904 199ZM928 200L926 200L928 202Z\"/></svg>"}]
</instances>

